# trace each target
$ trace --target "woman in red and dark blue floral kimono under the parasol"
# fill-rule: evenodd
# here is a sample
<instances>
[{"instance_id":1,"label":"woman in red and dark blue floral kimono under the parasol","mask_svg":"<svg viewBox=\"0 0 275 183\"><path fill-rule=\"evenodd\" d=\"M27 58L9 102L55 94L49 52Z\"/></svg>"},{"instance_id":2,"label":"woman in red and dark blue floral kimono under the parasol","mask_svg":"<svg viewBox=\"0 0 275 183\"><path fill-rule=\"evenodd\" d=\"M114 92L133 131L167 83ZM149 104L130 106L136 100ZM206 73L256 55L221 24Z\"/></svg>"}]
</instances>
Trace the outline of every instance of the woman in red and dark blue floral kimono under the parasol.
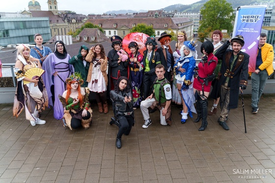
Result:
<instances>
[{"instance_id":1,"label":"woman in red and dark blue floral kimono under the parasol","mask_svg":"<svg viewBox=\"0 0 275 183\"><path fill-rule=\"evenodd\" d=\"M142 101L142 97L140 95L140 86L143 78L143 55L138 52L138 44L136 42L131 42L128 45L130 57L130 76L132 82L132 92L133 92L133 101L134 101L134 109L140 105Z\"/></svg>"}]
</instances>

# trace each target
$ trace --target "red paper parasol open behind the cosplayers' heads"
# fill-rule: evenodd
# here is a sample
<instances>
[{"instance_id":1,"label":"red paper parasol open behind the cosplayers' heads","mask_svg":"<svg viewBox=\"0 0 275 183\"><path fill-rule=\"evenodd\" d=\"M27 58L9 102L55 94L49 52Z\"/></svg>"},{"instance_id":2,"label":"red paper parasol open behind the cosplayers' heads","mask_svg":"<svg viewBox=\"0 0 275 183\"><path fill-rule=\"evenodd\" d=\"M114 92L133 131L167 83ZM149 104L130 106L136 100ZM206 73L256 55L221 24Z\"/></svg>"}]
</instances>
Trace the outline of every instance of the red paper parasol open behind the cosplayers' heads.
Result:
<instances>
[{"instance_id":1,"label":"red paper parasol open behind the cosplayers' heads","mask_svg":"<svg viewBox=\"0 0 275 183\"><path fill-rule=\"evenodd\" d=\"M130 53L131 51L129 50L128 45L132 41L135 41L138 43L138 51L143 55L143 51L146 50L144 43L146 42L147 37L149 37L147 34L141 32L132 32L127 34L122 40L122 48L125 52Z\"/></svg>"}]
</instances>

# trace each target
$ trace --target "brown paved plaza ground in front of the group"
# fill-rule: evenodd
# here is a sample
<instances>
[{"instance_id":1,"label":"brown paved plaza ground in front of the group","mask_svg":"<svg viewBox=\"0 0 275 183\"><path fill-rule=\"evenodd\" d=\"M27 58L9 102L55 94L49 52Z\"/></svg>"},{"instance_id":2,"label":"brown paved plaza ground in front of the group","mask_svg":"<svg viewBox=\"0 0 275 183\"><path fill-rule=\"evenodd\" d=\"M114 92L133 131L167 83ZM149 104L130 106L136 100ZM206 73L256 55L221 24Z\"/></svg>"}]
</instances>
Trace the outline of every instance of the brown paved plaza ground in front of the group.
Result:
<instances>
[{"instance_id":1,"label":"brown paved plaza ground in front of the group","mask_svg":"<svg viewBox=\"0 0 275 183\"><path fill-rule=\"evenodd\" d=\"M172 107L173 123L161 126L159 112L144 123L140 109L129 136L116 149L118 128L93 105L88 130L69 130L43 111L45 125L32 127L25 112L12 117L13 104L0 105L0 183L275 183L275 95L264 95L251 114L245 95L247 133L241 99L230 111L229 131L208 117L205 131ZM213 101L209 101L211 108ZM194 114L194 118L196 114Z\"/></svg>"}]
</instances>

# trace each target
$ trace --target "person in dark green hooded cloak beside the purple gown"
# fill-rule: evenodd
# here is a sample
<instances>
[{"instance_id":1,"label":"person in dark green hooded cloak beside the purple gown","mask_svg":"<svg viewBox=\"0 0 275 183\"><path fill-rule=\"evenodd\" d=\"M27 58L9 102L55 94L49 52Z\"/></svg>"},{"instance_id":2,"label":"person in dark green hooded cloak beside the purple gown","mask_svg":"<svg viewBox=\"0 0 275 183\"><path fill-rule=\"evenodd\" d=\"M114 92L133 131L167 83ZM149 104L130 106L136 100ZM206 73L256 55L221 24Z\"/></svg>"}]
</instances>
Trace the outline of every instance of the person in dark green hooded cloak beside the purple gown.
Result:
<instances>
[{"instance_id":1,"label":"person in dark green hooded cloak beside the purple gown","mask_svg":"<svg viewBox=\"0 0 275 183\"><path fill-rule=\"evenodd\" d=\"M79 54L76 56L73 56L69 60L69 64L72 64L74 66L75 72L80 73L81 77L84 80L84 83L81 85L81 87L88 86L88 82L86 80L87 80L90 63L85 60L88 52L89 52L89 49L85 45L82 45L79 49L79 52L78 52Z\"/></svg>"}]
</instances>

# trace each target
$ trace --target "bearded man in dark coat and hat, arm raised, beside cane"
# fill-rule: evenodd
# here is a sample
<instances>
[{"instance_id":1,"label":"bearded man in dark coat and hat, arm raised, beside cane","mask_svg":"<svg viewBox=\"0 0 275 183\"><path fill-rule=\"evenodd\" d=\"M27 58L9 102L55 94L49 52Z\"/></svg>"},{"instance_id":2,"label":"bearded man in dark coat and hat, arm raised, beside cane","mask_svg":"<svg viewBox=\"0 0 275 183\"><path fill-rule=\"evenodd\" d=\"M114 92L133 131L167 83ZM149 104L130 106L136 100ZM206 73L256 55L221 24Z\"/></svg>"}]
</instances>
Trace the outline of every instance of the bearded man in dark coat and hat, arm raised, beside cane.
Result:
<instances>
[{"instance_id":1,"label":"bearded man in dark coat and hat, arm raised, beside cane","mask_svg":"<svg viewBox=\"0 0 275 183\"><path fill-rule=\"evenodd\" d=\"M227 49L230 44L232 50ZM244 37L237 35L226 41L215 54L218 59L222 59L218 74L221 109L218 122L224 130L229 130L225 121L230 109L238 107L239 89L247 88L249 55L241 52L244 44Z\"/></svg>"}]
</instances>

